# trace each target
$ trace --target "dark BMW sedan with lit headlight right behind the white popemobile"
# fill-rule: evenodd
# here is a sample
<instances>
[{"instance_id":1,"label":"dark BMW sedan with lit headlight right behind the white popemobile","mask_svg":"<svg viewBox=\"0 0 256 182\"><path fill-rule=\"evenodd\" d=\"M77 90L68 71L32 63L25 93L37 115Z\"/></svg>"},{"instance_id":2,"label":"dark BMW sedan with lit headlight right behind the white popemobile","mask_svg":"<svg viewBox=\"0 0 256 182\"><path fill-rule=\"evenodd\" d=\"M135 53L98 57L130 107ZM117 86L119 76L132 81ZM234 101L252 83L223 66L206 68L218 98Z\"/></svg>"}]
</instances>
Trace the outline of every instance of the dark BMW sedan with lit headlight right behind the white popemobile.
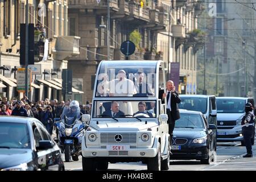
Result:
<instances>
[{"instance_id":1,"label":"dark BMW sedan with lit headlight right behind the white popemobile","mask_svg":"<svg viewBox=\"0 0 256 182\"><path fill-rule=\"evenodd\" d=\"M210 164L216 153L215 125L208 125L199 111L180 110L171 145L172 160L200 160Z\"/></svg>"}]
</instances>

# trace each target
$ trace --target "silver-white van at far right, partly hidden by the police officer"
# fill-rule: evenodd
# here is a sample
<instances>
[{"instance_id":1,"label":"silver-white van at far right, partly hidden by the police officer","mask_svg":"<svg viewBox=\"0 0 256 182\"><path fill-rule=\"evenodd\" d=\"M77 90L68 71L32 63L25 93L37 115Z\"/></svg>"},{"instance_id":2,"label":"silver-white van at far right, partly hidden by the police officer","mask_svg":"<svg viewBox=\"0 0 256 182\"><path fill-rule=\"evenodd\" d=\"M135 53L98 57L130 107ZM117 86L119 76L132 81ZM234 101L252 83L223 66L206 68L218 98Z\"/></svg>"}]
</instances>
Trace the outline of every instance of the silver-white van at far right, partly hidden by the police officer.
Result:
<instances>
[{"instance_id":1,"label":"silver-white van at far right, partly hidden by the police officer","mask_svg":"<svg viewBox=\"0 0 256 182\"><path fill-rule=\"evenodd\" d=\"M245 115L245 104L250 102L254 106L253 98L246 97L217 97L217 141L241 142L242 146L242 117ZM255 126L254 126L255 127ZM255 131L254 131L255 137ZM254 144L254 137L251 144Z\"/></svg>"}]
</instances>

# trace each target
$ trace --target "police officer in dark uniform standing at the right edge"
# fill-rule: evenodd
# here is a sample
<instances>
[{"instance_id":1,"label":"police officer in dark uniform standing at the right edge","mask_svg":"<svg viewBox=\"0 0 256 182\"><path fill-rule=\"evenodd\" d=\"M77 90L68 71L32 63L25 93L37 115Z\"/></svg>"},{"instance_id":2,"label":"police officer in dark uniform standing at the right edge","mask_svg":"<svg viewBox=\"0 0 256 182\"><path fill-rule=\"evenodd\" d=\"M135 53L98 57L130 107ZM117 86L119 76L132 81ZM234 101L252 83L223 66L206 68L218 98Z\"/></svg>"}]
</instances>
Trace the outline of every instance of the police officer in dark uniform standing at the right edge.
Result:
<instances>
[{"instance_id":1,"label":"police officer in dark uniform standing at the right edge","mask_svg":"<svg viewBox=\"0 0 256 182\"><path fill-rule=\"evenodd\" d=\"M252 110L253 105L251 105L250 102L247 102L245 104L245 115L243 116L241 122L243 140L245 141L245 146L247 150L247 154L244 155L243 158L253 157L253 151L251 151L251 138L254 138L254 115L251 113Z\"/></svg>"}]
</instances>

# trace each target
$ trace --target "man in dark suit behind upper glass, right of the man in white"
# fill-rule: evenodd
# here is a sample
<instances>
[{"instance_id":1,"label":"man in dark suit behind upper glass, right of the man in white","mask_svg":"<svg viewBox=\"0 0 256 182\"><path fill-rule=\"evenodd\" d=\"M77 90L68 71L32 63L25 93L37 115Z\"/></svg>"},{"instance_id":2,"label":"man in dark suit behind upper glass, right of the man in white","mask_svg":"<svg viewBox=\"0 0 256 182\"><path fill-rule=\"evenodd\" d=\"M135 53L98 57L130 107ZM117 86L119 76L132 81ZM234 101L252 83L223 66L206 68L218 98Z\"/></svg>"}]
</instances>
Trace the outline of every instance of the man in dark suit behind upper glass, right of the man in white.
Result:
<instances>
[{"instance_id":1,"label":"man in dark suit behind upper glass, right of the man in white","mask_svg":"<svg viewBox=\"0 0 256 182\"><path fill-rule=\"evenodd\" d=\"M138 72L137 78L134 81L135 88L137 90L137 94L134 94L134 97L148 97L153 96L154 93L152 92L150 85L144 81L144 73Z\"/></svg>"}]
</instances>

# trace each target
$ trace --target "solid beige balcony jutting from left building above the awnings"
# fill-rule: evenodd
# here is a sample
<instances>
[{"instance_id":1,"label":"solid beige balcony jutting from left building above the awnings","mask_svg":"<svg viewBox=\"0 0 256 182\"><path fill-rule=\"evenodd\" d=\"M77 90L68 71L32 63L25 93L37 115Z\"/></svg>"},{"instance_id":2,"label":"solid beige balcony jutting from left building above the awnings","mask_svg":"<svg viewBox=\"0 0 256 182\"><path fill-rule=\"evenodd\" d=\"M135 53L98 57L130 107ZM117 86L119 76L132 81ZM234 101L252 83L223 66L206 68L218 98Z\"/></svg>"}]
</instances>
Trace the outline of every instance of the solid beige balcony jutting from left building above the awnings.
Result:
<instances>
[{"instance_id":1,"label":"solid beige balcony jutting from left building above the awnings","mask_svg":"<svg viewBox=\"0 0 256 182\"><path fill-rule=\"evenodd\" d=\"M69 57L79 55L79 39L79 36L58 36L52 50L53 59L68 60Z\"/></svg>"}]
</instances>

